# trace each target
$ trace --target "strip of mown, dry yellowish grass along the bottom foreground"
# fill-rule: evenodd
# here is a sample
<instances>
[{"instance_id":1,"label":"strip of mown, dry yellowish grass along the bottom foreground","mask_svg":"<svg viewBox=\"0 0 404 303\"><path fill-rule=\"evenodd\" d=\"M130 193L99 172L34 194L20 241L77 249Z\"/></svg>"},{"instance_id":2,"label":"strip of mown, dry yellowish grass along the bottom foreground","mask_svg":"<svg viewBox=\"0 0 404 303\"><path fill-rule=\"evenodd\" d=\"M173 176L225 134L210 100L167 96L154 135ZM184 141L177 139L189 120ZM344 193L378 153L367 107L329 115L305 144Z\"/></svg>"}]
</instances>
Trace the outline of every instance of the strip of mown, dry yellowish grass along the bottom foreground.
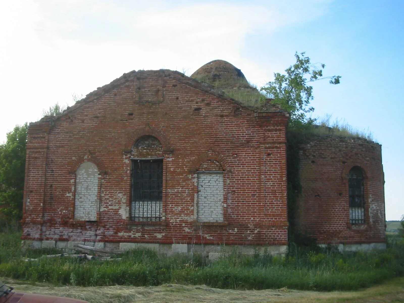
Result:
<instances>
[{"instance_id":1,"label":"strip of mown, dry yellowish grass along the bottom foreground","mask_svg":"<svg viewBox=\"0 0 404 303\"><path fill-rule=\"evenodd\" d=\"M134 287L55 287L45 283L27 284L19 280L0 278L18 292L74 297L91 303L111 302L372 302L404 303L404 278L394 278L378 286L353 292L315 292L281 288L277 290L223 290L207 286L184 286L165 284L162 286Z\"/></svg>"}]
</instances>

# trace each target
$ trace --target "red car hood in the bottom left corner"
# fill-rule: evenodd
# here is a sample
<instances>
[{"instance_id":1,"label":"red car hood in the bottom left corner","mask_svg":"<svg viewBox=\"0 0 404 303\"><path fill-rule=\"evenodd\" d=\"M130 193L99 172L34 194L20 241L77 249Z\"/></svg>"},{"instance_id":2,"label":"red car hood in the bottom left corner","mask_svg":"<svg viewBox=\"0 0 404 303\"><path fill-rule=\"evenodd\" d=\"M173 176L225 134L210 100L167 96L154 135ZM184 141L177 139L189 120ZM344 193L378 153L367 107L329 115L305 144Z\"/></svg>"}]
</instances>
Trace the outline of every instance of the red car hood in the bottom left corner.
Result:
<instances>
[{"instance_id":1,"label":"red car hood in the bottom left corner","mask_svg":"<svg viewBox=\"0 0 404 303\"><path fill-rule=\"evenodd\" d=\"M88 301L64 297L25 294L23 292L11 292L6 297L0 297L0 303L88 303Z\"/></svg>"}]
</instances>

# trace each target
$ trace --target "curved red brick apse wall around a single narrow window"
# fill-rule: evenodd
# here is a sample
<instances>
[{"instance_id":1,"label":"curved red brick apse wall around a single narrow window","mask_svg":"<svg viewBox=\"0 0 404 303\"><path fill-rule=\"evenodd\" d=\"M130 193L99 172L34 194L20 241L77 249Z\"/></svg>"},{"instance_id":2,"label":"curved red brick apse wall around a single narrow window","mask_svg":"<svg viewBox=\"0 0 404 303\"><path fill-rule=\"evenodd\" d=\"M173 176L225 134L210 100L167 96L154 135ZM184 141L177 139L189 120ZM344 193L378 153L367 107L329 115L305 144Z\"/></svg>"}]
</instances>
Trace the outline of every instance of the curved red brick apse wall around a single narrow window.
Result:
<instances>
[{"instance_id":1,"label":"curved red brick apse wall around a single narrow window","mask_svg":"<svg viewBox=\"0 0 404 303\"><path fill-rule=\"evenodd\" d=\"M381 145L358 138L314 138L300 148L297 227L319 244L385 242ZM364 171L365 223L349 223L348 173Z\"/></svg>"}]
</instances>

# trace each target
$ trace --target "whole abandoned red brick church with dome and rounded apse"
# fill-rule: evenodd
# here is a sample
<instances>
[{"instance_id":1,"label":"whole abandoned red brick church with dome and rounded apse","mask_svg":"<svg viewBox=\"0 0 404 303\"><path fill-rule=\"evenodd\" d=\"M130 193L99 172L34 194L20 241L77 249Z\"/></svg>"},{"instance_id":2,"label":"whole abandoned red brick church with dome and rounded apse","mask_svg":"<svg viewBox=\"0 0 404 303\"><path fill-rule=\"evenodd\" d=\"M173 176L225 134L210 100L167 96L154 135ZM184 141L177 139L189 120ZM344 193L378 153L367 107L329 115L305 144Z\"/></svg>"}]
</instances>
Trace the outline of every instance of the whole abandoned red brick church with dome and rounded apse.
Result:
<instances>
[{"instance_id":1,"label":"whole abandoned red brick church with dome and rounded apse","mask_svg":"<svg viewBox=\"0 0 404 303\"><path fill-rule=\"evenodd\" d=\"M301 144L289 222L289 115L235 92L258 93L226 61L191 77L133 71L31 123L25 246L284 254L293 224L341 250L385 247L381 146L332 135Z\"/></svg>"}]
</instances>

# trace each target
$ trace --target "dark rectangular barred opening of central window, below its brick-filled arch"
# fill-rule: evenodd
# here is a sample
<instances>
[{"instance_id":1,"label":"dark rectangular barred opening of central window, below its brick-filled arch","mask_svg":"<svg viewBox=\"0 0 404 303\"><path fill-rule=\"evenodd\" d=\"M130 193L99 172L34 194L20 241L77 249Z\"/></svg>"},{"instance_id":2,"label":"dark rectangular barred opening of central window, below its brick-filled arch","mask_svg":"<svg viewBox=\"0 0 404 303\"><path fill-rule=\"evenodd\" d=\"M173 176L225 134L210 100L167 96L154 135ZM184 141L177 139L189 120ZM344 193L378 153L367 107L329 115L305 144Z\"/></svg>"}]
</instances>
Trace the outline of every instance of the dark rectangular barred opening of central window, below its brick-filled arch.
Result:
<instances>
[{"instance_id":1,"label":"dark rectangular barred opening of central window, below its brick-filled arch","mask_svg":"<svg viewBox=\"0 0 404 303\"><path fill-rule=\"evenodd\" d=\"M161 221L163 159L132 160L133 221Z\"/></svg>"}]
</instances>

